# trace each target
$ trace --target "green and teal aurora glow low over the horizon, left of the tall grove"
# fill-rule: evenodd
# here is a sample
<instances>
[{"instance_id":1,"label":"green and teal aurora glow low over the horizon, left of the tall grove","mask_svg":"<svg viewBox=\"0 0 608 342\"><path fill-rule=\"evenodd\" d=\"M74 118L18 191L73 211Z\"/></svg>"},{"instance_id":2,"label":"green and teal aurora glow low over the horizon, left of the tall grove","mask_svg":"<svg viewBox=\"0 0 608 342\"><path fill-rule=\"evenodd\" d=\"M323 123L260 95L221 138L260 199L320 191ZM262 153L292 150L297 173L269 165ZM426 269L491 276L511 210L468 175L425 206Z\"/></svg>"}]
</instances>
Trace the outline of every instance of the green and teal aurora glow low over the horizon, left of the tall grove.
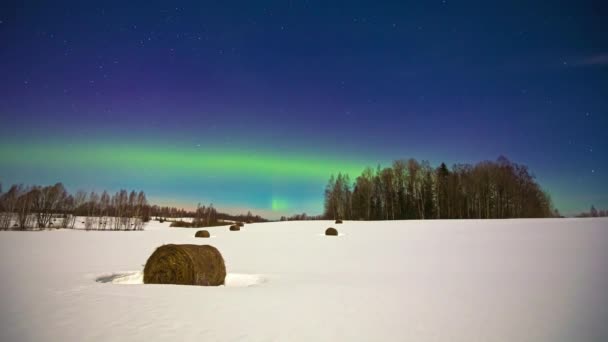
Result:
<instances>
[{"instance_id":1,"label":"green and teal aurora glow low over the horizon, left of the tall grove","mask_svg":"<svg viewBox=\"0 0 608 342\"><path fill-rule=\"evenodd\" d=\"M2 144L0 158L6 184L61 181L73 189L110 191L136 187L152 203L192 202L186 205L190 207L200 201L269 218L319 214L329 176L342 172L356 177L367 166L329 155L141 143Z\"/></svg>"}]
</instances>

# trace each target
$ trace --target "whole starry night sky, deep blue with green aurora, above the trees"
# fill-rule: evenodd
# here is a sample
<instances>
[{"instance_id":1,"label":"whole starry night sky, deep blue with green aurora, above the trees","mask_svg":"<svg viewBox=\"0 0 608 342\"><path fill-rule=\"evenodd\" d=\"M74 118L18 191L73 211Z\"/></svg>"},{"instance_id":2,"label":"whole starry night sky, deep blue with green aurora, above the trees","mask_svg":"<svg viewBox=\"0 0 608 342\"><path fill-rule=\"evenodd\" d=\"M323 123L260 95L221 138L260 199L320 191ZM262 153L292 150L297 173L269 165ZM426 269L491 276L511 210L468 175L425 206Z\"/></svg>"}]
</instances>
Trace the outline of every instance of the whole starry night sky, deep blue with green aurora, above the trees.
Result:
<instances>
[{"instance_id":1,"label":"whole starry night sky, deep blue with green aurora, above the trees","mask_svg":"<svg viewBox=\"0 0 608 342\"><path fill-rule=\"evenodd\" d=\"M603 1L2 1L0 181L322 211L331 173L505 155L608 208Z\"/></svg>"}]
</instances>

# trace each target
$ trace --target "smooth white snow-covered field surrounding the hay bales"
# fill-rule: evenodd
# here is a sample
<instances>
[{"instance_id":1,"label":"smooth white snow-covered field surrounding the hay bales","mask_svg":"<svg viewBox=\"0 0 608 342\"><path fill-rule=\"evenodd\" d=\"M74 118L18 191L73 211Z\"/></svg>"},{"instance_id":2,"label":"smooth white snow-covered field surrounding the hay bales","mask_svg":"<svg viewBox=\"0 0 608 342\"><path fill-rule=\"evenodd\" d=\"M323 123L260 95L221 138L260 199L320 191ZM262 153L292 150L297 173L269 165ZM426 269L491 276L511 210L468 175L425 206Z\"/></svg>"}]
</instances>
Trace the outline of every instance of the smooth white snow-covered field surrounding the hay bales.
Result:
<instances>
[{"instance_id":1,"label":"smooth white snow-covered field surrounding the hay bales","mask_svg":"<svg viewBox=\"0 0 608 342\"><path fill-rule=\"evenodd\" d=\"M608 341L607 219L195 231L0 232L0 341ZM141 284L166 243L227 285Z\"/></svg>"}]
</instances>

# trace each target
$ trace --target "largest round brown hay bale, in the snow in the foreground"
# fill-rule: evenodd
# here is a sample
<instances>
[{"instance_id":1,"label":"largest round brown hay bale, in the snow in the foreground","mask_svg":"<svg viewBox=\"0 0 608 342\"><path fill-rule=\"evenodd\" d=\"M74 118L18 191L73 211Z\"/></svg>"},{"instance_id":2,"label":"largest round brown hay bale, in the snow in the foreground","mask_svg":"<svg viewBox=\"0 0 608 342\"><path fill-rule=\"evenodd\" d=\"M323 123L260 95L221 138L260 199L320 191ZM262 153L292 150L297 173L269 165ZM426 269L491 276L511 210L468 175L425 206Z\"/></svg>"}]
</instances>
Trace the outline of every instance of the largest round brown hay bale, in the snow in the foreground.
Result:
<instances>
[{"instance_id":1,"label":"largest round brown hay bale, in the snow in the foreground","mask_svg":"<svg viewBox=\"0 0 608 342\"><path fill-rule=\"evenodd\" d=\"M225 278L222 254L209 245L160 246L144 267L144 284L218 286Z\"/></svg>"}]
</instances>

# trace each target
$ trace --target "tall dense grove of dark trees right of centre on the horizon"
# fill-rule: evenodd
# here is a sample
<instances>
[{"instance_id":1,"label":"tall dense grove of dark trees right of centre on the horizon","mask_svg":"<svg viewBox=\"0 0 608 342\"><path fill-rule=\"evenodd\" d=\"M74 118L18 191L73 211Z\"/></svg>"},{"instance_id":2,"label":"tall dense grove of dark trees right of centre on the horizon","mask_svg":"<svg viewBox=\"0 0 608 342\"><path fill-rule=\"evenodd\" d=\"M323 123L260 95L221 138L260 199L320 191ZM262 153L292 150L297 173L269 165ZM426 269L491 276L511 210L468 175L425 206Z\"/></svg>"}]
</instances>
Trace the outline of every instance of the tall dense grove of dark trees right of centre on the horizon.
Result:
<instances>
[{"instance_id":1,"label":"tall dense grove of dark trees right of centre on the horizon","mask_svg":"<svg viewBox=\"0 0 608 342\"><path fill-rule=\"evenodd\" d=\"M475 165L396 160L367 167L354 182L332 175L325 188L327 219L491 219L559 216L525 165L505 157Z\"/></svg>"}]
</instances>

